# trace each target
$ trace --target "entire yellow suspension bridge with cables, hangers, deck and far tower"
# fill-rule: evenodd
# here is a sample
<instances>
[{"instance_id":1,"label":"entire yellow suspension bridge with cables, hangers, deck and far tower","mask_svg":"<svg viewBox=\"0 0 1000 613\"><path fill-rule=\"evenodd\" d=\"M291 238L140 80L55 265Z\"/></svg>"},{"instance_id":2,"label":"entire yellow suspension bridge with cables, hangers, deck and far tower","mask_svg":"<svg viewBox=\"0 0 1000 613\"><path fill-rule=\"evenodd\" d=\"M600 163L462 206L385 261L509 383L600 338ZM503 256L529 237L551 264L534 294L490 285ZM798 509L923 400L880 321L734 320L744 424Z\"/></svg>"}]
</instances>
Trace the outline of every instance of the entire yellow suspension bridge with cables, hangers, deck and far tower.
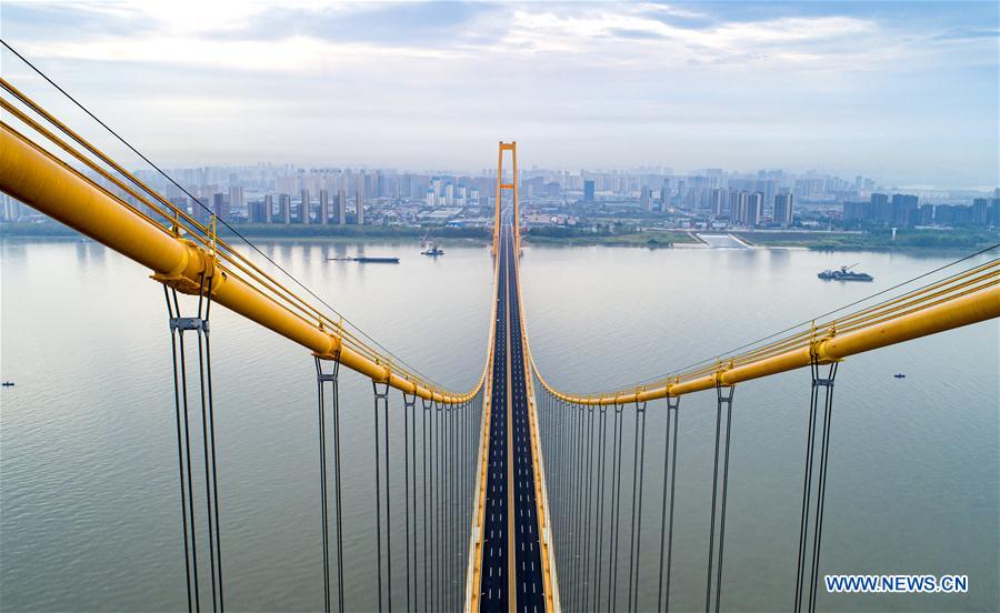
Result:
<instances>
[{"instance_id":1,"label":"entire yellow suspension bridge with cables, hangers, deck and far tower","mask_svg":"<svg viewBox=\"0 0 1000 613\"><path fill-rule=\"evenodd\" d=\"M358 607L343 590L349 562L341 468L348 459L341 454L339 388L350 371L372 385L378 530L371 546L378 555L370 589L377 591L378 609L528 613L666 611L678 564L706 569L704 609L720 611L734 392L741 383L793 370L808 374L803 384L811 396L802 415L808 435L797 579L788 604L814 610L838 368L858 353L1000 316L1000 259L974 265L963 265L963 259L933 282L889 288L863 304L677 372L596 393L560 390L530 350L519 282L517 144L501 142L484 365L471 389L449 390L386 350L249 240L241 250L221 239L221 220L200 222L13 83L0 78L0 190L140 263L162 287L164 344L173 364L172 390L164 393L174 408L178 462L171 470L180 486L190 611L226 607L224 508L217 476L226 458L216 445L210 343L214 309L300 345L314 366L322 517L317 564L323 569L324 610ZM674 499L681 494L674 485L678 420L681 400L699 392L712 394L717 409L708 550L702 559L679 560L673 556ZM667 431L648 435L647 406L654 400L666 401ZM401 446L390 445L390 420L402 421ZM626 429L632 431L628 439ZM643 485L648 462L662 463L659 491ZM631 474L622 474L623 466ZM400 478L402 505L391 499L399 494ZM659 501L658 516L642 516L644 495ZM639 565L650 557L643 547L654 550L657 585L656 599L640 602Z\"/></svg>"}]
</instances>

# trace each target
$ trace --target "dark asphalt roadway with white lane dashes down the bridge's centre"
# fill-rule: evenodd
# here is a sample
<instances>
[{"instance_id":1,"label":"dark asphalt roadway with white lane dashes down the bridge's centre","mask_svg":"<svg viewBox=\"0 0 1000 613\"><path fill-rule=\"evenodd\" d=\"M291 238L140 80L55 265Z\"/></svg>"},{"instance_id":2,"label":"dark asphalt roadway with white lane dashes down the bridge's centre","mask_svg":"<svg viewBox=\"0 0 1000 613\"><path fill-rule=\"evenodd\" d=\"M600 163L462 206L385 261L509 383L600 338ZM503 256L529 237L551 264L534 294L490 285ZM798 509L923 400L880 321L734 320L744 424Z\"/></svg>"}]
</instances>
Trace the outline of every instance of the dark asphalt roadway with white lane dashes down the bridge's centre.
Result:
<instances>
[{"instance_id":1,"label":"dark asphalt roadway with white lane dashes down the bridge's centre","mask_svg":"<svg viewBox=\"0 0 1000 613\"><path fill-rule=\"evenodd\" d=\"M528 382L517 253L509 214L504 215L498 257L491 390L494 410L490 413L489 424L479 610L542 613L546 601L528 420Z\"/></svg>"}]
</instances>

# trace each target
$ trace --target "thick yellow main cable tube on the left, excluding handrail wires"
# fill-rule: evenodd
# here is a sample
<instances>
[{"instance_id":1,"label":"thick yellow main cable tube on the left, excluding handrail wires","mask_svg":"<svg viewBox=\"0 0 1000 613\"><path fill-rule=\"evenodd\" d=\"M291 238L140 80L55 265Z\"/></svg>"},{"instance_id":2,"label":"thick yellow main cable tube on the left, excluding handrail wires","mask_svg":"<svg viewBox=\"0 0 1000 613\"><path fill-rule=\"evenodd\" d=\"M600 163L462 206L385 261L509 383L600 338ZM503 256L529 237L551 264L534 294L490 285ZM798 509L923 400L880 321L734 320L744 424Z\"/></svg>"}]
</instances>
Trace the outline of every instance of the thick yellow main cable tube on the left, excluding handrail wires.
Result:
<instances>
[{"instance_id":1,"label":"thick yellow main cable tube on the left, excluding handrail wires","mask_svg":"<svg viewBox=\"0 0 1000 613\"><path fill-rule=\"evenodd\" d=\"M376 381L439 402L462 402L471 396L419 385L393 373L388 364L342 346L340 338L228 273L206 251L151 224L6 125L0 127L0 191L151 269L158 280L197 288L202 273L219 271L212 275L213 301L319 355L338 356L346 366Z\"/></svg>"}]
</instances>

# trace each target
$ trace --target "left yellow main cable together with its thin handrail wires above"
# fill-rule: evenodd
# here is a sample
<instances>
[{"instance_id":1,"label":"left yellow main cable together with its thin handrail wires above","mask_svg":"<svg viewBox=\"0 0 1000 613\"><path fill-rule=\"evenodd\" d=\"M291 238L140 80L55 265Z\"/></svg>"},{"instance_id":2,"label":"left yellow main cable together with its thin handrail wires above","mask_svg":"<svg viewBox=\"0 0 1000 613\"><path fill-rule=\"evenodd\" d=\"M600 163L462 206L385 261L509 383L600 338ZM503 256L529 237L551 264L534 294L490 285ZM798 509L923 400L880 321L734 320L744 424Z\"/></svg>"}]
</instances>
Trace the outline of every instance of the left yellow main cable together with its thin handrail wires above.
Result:
<instances>
[{"instance_id":1,"label":"left yellow main cable together with its thin handrail wires above","mask_svg":"<svg viewBox=\"0 0 1000 613\"><path fill-rule=\"evenodd\" d=\"M292 283L278 280L220 238L214 215L197 219L8 80L0 78L0 88L4 93L0 108L34 133L31 138L7 120L0 121L3 192L150 268L152 278L164 285L181 293L211 295L214 302L316 355L336 360L373 381L443 403L467 402L482 388L486 366L464 392L434 383L308 288L291 288L297 280L290 275ZM190 198L194 207L208 210Z\"/></svg>"}]
</instances>

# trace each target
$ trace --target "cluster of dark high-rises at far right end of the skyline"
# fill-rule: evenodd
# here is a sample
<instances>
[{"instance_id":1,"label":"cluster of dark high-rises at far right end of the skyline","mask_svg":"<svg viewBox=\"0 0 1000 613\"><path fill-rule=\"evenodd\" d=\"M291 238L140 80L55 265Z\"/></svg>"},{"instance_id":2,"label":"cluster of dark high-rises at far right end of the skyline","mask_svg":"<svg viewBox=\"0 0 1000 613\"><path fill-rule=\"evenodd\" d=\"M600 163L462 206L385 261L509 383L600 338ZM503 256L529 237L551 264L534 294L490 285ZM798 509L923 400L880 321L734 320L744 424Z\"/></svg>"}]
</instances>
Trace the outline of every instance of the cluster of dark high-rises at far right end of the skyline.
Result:
<instances>
[{"instance_id":1,"label":"cluster of dark high-rises at far right end of the skyline","mask_svg":"<svg viewBox=\"0 0 1000 613\"><path fill-rule=\"evenodd\" d=\"M1000 227L1000 189L993 198L974 198L971 204L920 204L913 194L872 193L868 201L844 202L843 221L893 228Z\"/></svg>"}]
</instances>

